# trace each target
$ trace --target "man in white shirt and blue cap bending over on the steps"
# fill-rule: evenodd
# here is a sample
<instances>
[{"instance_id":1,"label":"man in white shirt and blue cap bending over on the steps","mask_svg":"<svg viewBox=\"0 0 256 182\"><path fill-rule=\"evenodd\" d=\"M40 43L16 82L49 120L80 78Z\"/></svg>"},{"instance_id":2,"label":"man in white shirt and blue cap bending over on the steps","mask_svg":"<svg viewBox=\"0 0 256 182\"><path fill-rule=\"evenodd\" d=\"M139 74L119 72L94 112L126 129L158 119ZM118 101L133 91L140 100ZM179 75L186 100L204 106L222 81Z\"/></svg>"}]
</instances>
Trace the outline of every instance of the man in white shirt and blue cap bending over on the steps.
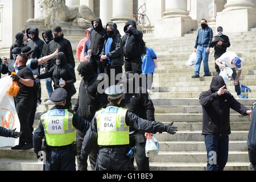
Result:
<instances>
[{"instance_id":1,"label":"man in white shirt and blue cap bending over on the steps","mask_svg":"<svg viewBox=\"0 0 256 182\"><path fill-rule=\"evenodd\" d=\"M215 63L220 67L220 69L229 67L233 70L232 78L234 79L235 90L237 96L240 97L241 88L239 78L242 73L242 61L234 52L225 52L221 57L219 57ZM237 71L236 71L237 68Z\"/></svg>"}]
</instances>

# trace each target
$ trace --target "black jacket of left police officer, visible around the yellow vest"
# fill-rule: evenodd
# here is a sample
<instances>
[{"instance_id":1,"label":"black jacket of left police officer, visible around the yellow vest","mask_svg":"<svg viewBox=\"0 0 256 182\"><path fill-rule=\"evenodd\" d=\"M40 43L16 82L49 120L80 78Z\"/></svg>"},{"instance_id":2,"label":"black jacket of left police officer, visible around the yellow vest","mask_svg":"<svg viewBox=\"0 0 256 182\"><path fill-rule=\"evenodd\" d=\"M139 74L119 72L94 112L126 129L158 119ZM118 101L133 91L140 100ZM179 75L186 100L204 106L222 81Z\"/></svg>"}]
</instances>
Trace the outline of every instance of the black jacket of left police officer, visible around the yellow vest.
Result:
<instances>
[{"instance_id":1,"label":"black jacket of left police officer, visible around the yellow vest","mask_svg":"<svg viewBox=\"0 0 256 182\"><path fill-rule=\"evenodd\" d=\"M65 107L56 105L52 107L51 110L53 109L65 109ZM68 111L69 113L73 114L72 110L68 110ZM46 113L46 111L44 113ZM84 118L79 117L79 115L73 114L72 125L75 126L76 129L80 130L82 133L85 134L86 131L89 129L90 123L89 121L86 121ZM38 154L38 152L41 151L43 138L44 138L44 127L43 127L42 121L40 121L39 126L33 135L33 146L36 154Z\"/></svg>"}]
</instances>

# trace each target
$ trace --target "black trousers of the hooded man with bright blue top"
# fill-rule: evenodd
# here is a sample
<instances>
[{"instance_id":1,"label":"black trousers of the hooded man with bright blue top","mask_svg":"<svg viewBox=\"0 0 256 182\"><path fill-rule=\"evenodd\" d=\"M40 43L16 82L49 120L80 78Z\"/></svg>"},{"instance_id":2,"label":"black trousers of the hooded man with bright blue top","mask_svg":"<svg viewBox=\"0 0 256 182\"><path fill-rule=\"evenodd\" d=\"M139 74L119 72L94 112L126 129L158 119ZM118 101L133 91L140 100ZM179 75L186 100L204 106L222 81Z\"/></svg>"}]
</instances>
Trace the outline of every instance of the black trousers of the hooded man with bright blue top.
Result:
<instances>
[{"instance_id":1,"label":"black trousers of the hooded man with bright blue top","mask_svg":"<svg viewBox=\"0 0 256 182\"><path fill-rule=\"evenodd\" d=\"M111 77L111 72L114 72L114 78ZM123 69L122 66L113 66L112 64L108 64L104 68L104 73L108 75L109 86L116 85L119 80L115 80L115 78L117 78L119 73L123 73Z\"/></svg>"}]
</instances>

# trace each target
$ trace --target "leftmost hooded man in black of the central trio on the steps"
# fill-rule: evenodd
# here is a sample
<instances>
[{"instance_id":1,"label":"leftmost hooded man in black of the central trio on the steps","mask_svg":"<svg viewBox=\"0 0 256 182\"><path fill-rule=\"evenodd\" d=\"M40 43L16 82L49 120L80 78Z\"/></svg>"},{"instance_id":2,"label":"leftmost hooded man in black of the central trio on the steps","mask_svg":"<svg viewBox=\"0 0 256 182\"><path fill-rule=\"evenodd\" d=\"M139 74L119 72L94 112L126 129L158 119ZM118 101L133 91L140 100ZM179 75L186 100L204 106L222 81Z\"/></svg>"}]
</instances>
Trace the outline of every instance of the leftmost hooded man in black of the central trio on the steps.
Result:
<instances>
[{"instance_id":1,"label":"leftmost hooded man in black of the central trio on the steps","mask_svg":"<svg viewBox=\"0 0 256 182\"><path fill-rule=\"evenodd\" d=\"M92 20L92 30L90 31L90 48L91 48L91 63L95 73L104 73L104 68L100 61L100 55L106 39L106 30L102 27L100 18Z\"/></svg>"}]
</instances>

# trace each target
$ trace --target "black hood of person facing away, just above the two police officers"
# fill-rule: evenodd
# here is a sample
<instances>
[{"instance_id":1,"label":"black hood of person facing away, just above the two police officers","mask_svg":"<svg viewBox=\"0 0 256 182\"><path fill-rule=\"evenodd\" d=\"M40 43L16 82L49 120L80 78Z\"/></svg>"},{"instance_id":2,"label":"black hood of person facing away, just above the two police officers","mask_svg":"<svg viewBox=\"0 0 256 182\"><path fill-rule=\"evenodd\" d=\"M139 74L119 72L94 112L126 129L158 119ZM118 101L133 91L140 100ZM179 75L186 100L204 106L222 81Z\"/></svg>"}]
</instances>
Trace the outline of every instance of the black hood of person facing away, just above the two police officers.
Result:
<instances>
[{"instance_id":1,"label":"black hood of person facing away, just above the two police officers","mask_svg":"<svg viewBox=\"0 0 256 182\"><path fill-rule=\"evenodd\" d=\"M81 62L77 67L77 71L86 81L90 81L93 77L97 76L93 71L92 64L89 62Z\"/></svg>"}]
</instances>

